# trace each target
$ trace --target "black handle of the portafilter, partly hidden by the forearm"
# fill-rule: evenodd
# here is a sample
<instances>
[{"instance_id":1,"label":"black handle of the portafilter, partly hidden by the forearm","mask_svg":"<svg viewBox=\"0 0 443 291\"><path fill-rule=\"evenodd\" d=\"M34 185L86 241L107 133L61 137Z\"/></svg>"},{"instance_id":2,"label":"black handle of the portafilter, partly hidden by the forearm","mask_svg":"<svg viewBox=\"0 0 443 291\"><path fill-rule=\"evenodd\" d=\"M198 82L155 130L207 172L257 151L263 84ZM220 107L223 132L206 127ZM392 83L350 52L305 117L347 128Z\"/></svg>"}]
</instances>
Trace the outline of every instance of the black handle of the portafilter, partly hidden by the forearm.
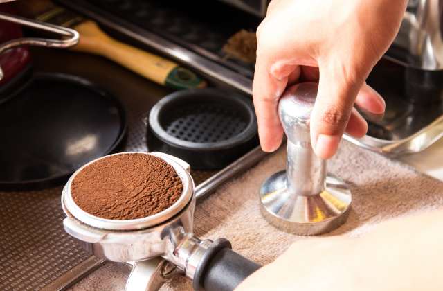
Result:
<instances>
[{"instance_id":1,"label":"black handle of the portafilter, partly hidden by the forearm","mask_svg":"<svg viewBox=\"0 0 443 291\"><path fill-rule=\"evenodd\" d=\"M192 287L197 291L233 291L261 265L237 254L229 241L215 240L195 271Z\"/></svg>"}]
</instances>

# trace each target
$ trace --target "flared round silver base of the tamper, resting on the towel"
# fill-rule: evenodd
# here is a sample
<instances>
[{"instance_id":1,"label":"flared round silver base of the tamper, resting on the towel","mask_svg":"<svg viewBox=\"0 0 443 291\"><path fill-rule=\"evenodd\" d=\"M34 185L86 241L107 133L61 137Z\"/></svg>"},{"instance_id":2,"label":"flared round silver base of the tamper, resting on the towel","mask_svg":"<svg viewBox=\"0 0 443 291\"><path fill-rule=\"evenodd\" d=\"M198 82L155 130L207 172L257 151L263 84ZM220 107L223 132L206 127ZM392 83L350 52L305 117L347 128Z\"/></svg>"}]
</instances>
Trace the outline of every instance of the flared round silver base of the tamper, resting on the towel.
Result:
<instances>
[{"instance_id":1,"label":"flared round silver base of the tamper, resting on the towel","mask_svg":"<svg viewBox=\"0 0 443 291\"><path fill-rule=\"evenodd\" d=\"M325 190L316 195L289 191L285 170L269 177L260 188L264 218L278 229L301 236L326 233L341 226L351 202L350 189L332 175L326 177Z\"/></svg>"}]
</instances>

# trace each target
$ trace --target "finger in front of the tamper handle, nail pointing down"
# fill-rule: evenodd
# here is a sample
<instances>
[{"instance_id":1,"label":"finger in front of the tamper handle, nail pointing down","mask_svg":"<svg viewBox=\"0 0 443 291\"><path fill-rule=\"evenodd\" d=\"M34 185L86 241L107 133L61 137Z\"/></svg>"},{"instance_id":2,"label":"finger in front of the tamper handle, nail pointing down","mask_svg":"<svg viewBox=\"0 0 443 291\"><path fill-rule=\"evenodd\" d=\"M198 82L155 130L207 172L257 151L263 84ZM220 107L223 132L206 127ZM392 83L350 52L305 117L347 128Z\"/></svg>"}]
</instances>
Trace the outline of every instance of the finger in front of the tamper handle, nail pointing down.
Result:
<instances>
[{"instance_id":1,"label":"finger in front of the tamper handle, nail pointing down","mask_svg":"<svg viewBox=\"0 0 443 291\"><path fill-rule=\"evenodd\" d=\"M320 66L316 103L311 114L311 143L322 159L332 157L351 116L363 78L341 66ZM356 81L358 80L358 81Z\"/></svg>"}]
</instances>

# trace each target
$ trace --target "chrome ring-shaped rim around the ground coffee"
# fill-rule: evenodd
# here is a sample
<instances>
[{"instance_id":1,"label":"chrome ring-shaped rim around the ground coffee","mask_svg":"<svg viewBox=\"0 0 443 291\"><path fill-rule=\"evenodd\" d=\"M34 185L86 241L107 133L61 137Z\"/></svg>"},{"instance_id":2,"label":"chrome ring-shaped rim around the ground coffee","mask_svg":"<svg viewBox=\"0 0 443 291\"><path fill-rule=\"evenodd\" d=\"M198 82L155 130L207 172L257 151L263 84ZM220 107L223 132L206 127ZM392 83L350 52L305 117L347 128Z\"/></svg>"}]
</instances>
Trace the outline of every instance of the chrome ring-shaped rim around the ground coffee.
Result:
<instances>
[{"instance_id":1,"label":"chrome ring-shaped rim around the ground coffee","mask_svg":"<svg viewBox=\"0 0 443 291\"><path fill-rule=\"evenodd\" d=\"M101 159L106 159L111 156L116 155L152 155L154 157L159 157L163 159L166 163L170 164L179 175L181 182L183 184L183 191L179 199L174 202L168 209L165 209L154 215L150 215L146 218L137 218L132 220L111 220L106 218L100 218L95 215L91 215L86 211L83 211L73 200L71 194L71 184L75 176L78 175L87 166L100 161ZM62 191L62 208L66 216L73 216L76 220L89 225L90 227L95 227L97 229L106 229L111 231L137 231L141 229L147 229L149 227L154 227L161 224L170 218L177 215L180 211L186 208L190 200L192 199L194 189L194 181L188 171L183 168L177 161L174 161L173 157L168 157L162 153L147 153L147 152L120 152L112 155L107 155L105 157L100 157L94 159L89 163L85 164L81 168L75 171L73 175L69 178L68 182Z\"/></svg>"}]
</instances>

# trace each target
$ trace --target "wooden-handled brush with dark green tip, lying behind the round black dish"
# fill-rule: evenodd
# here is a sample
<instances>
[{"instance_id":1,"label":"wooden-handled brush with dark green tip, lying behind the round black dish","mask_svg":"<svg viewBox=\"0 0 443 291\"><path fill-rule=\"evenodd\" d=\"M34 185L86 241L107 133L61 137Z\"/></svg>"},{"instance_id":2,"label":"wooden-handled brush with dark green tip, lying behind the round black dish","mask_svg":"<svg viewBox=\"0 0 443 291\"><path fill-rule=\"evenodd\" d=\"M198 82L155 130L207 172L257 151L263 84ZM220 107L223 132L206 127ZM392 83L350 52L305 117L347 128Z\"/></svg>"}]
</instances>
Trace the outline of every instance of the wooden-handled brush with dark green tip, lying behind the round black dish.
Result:
<instances>
[{"instance_id":1,"label":"wooden-handled brush with dark green tip, lying behind the round black dish","mask_svg":"<svg viewBox=\"0 0 443 291\"><path fill-rule=\"evenodd\" d=\"M96 22L56 6L51 1L18 1L17 8L26 17L77 30L80 41L71 48L74 51L101 55L149 80L174 89L206 87L206 81L189 69L159 55L118 42L104 33Z\"/></svg>"}]
</instances>

